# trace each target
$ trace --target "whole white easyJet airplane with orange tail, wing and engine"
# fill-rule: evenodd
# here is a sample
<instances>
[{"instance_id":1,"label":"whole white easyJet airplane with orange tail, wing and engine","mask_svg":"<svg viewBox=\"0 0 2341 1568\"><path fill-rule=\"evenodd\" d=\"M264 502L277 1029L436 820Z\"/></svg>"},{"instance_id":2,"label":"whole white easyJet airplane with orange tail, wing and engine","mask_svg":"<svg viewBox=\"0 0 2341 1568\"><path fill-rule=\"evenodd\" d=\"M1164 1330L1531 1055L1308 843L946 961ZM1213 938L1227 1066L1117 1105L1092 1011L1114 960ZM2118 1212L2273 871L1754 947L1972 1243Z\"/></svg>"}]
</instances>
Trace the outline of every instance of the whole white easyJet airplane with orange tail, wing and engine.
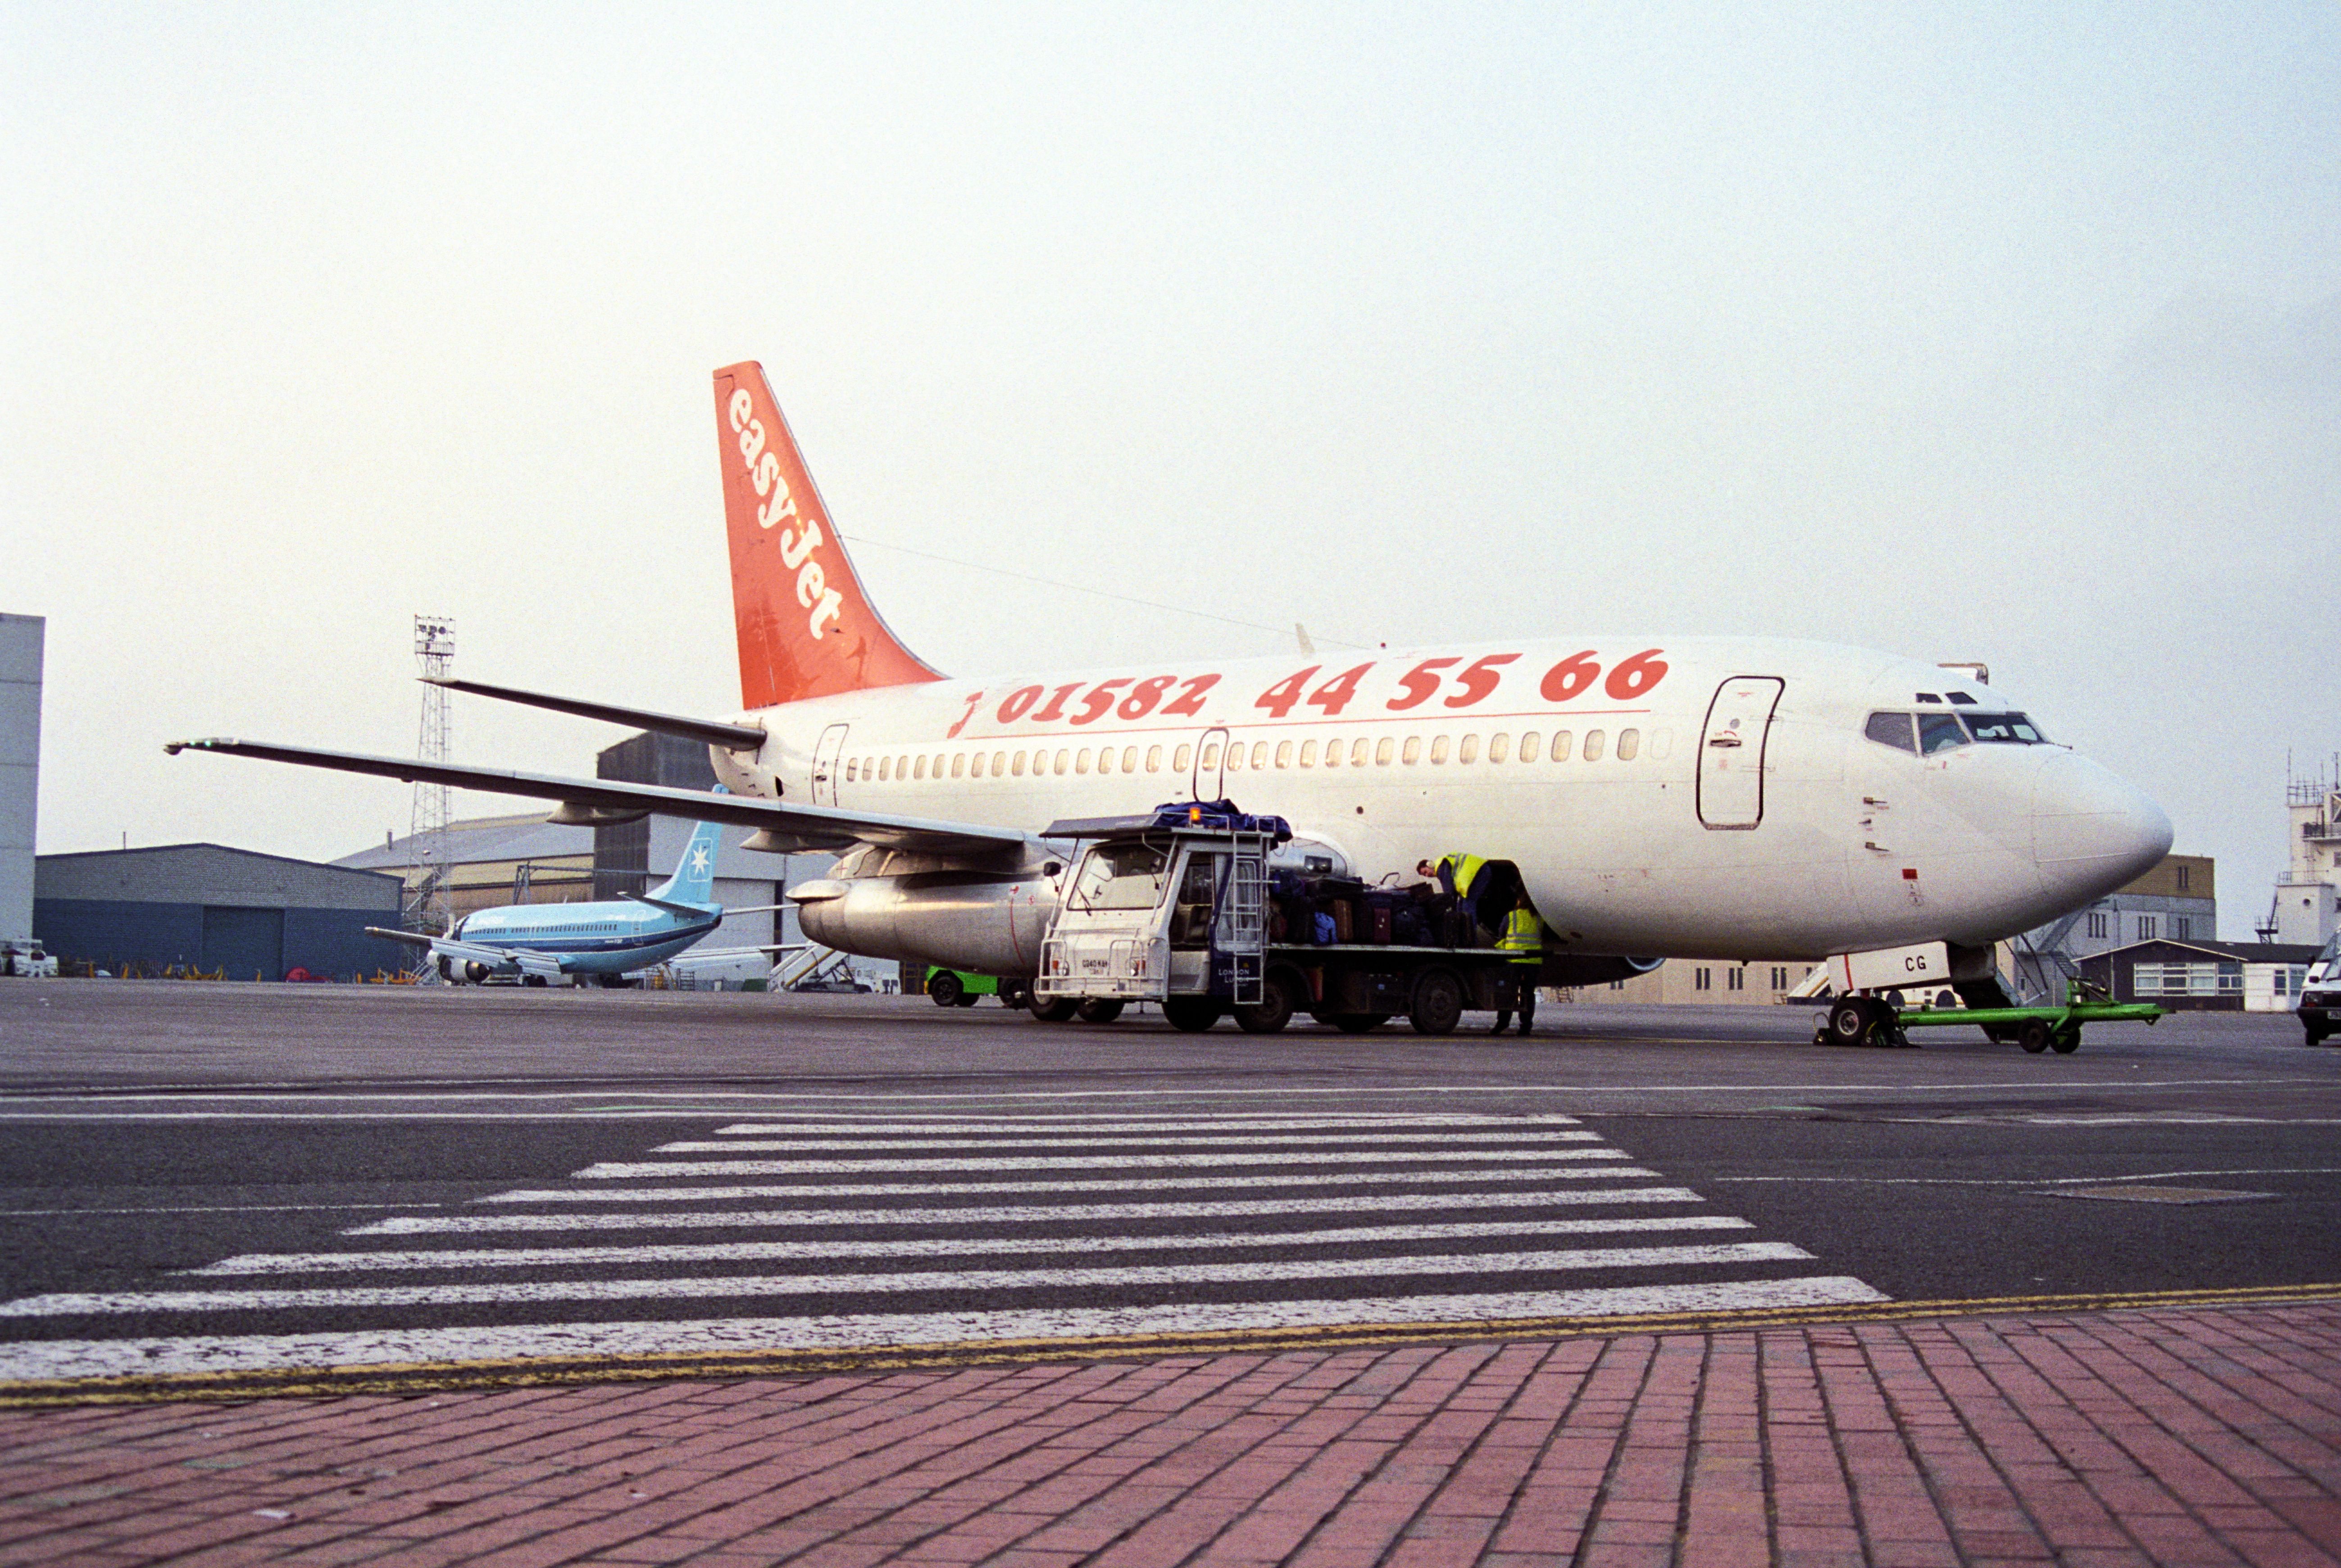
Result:
<instances>
[{"instance_id":1,"label":"whole white easyJet airplane with orange tail, wing and engine","mask_svg":"<svg viewBox=\"0 0 2341 1568\"><path fill-rule=\"evenodd\" d=\"M171 751L850 850L789 889L812 941L1000 976L1035 974L1058 908L1070 845L1046 826L1173 798L1241 796L1365 880L1447 852L1512 861L1547 985L1931 943L1952 978L1985 976L1995 941L2170 850L2147 796L2046 740L1980 667L1814 641L1522 637L946 679L869 604L763 370L714 381L740 711L449 686L702 740L730 796L241 740Z\"/></svg>"}]
</instances>

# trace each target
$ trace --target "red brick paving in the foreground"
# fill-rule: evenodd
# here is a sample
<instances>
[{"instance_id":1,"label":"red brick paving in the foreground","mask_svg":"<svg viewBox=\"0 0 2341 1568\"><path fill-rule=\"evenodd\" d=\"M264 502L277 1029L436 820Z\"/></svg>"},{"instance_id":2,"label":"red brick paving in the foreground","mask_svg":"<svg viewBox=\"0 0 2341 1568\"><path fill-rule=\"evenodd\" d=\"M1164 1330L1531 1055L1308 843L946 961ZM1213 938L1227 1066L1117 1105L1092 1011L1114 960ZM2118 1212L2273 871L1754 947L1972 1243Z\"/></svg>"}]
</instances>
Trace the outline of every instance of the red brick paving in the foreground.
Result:
<instances>
[{"instance_id":1,"label":"red brick paving in the foreground","mask_svg":"<svg viewBox=\"0 0 2341 1568\"><path fill-rule=\"evenodd\" d=\"M0 1563L2341 1568L2341 1304L5 1411L0 1442Z\"/></svg>"}]
</instances>

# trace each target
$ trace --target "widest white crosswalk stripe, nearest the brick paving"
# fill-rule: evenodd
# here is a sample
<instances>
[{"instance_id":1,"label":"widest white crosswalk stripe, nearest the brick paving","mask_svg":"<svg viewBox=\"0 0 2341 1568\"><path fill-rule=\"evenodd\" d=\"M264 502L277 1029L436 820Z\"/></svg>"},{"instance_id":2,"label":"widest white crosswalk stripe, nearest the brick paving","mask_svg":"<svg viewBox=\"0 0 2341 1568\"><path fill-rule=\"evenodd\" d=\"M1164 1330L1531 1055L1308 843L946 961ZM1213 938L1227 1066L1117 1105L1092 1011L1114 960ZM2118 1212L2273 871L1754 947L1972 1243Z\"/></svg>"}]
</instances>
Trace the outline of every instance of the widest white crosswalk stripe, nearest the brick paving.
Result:
<instances>
[{"instance_id":1,"label":"widest white crosswalk stripe, nearest the brick paving","mask_svg":"<svg viewBox=\"0 0 2341 1568\"><path fill-rule=\"evenodd\" d=\"M0 1348L5 1378L136 1378L204 1371L431 1367L501 1360L751 1355L997 1341L1091 1341L1131 1334L1227 1334L1367 1325L1620 1318L1629 1313L1760 1313L1856 1306L1887 1297L1849 1275L1714 1285L1615 1285L1458 1297L1241 1301L1231 1306L1025 1308L1007 1313L859 1313L838 1318L700 1318L681 1322L545 1322L370 1334L201 1334L185 1339L59 1339Z\"/></svg>"}]
</instances>

